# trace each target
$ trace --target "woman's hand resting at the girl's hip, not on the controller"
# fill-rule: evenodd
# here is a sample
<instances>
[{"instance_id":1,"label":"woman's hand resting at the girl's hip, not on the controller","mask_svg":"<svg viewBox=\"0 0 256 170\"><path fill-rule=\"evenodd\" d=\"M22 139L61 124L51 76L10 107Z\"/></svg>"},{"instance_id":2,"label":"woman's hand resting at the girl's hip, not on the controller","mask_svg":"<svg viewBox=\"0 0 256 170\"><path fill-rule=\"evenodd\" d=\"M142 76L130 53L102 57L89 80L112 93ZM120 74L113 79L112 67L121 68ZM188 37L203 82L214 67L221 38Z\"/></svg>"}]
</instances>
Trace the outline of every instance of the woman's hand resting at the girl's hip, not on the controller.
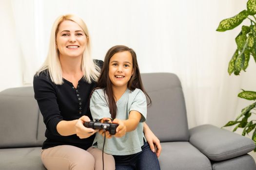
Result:
<instances>
[{"instance_id":1,"label":"woman's hand resting at the girl's hip, not on the controller","mask_svg":"<svg viewBox=\"0 0 256 170\"><path fill-rule=\"evenodd\" d=\"M157 136L149 129L148 125L144 123L144 135L147 139L147 142L149 143L150 149L152 152L156 153L157 156L160 156L160 153L162 151L162 147L160 144L160 140ZM155 148L156 147L156 148Z\"/></svg>"}]
</instances>

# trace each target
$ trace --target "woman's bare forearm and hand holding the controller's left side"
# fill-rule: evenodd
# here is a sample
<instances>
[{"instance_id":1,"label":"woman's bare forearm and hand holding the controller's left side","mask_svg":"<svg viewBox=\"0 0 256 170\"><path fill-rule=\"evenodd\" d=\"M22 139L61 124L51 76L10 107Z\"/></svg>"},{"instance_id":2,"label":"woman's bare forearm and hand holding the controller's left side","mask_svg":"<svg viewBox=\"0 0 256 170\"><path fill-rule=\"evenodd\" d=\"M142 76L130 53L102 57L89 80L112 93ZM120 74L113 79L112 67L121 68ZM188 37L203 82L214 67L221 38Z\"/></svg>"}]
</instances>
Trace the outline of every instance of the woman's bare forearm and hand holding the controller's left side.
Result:
<instances>
[{"instance_id":1,"label":"woman's bare forearm and hand holding the controller's left side","mask_svg":"<svg viewBox=\"0 0 256 170\"><path fill-rule=\"evenodd\" d=\"M85 121L90 121L90 119L87 116L82 116L76 120L61 120L57 124L57 131L61 136L70 136L76 134L81 139L87 138L95 134L97 131L92 128L84 127L83 123Z\"/></svg>"}]
</instances>

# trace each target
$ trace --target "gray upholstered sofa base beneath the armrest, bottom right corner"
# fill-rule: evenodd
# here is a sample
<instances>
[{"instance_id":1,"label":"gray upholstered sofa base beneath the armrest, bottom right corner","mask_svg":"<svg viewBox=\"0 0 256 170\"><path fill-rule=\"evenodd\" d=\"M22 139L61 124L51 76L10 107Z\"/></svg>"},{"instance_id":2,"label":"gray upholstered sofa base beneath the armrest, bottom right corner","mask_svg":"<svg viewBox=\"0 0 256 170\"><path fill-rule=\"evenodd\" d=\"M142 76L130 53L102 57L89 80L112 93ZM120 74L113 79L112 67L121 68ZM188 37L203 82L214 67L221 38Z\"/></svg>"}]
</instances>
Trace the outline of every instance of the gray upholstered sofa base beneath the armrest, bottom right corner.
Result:
<instances>
[{"instance_id":1,"label":"gray upholstered sofa base beneath the armrest, bottom right corner","mask_svg":"<svg viewBox=\"0 0 256 170\"><path fill-rule=\"evenodd\" d=\"M213 170L255 170L256 164L252 156L245 154L233 159L212 162Z\"/></svg>"}]
</instances>

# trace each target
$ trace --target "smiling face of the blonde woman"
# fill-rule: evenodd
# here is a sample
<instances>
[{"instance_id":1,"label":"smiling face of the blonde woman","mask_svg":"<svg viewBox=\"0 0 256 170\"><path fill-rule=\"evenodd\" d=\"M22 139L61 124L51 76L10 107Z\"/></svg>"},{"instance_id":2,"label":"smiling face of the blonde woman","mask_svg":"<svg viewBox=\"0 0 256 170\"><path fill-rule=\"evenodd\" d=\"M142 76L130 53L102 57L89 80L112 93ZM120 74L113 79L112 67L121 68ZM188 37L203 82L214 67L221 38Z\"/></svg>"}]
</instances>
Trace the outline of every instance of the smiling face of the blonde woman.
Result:
<instances>
[{"instance_id":1,"label":"smiling face of the blonde woman","mask_svg":"<svg viewBox=\"0 0 256 170\"><path fill-rule=\"evenodd\" d=\"M86 47L87 37L76 22L64 20L59 24L56 43L59 57L81 57Z\"/></svg>"}]
</instances>

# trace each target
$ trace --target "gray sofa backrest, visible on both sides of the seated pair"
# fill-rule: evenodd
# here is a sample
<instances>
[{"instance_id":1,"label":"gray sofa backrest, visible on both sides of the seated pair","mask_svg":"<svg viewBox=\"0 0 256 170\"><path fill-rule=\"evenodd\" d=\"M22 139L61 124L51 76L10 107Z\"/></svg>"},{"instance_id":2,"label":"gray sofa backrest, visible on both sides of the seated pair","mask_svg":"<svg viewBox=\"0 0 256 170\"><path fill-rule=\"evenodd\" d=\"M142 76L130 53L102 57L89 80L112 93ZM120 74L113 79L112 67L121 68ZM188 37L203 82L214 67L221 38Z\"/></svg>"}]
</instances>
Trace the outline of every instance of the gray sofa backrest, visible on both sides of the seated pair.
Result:
<instances>
[{"instance_id":1,"label":"gray sofa backrest, visible on both sides of the seated pair","mask_svg":"<svg viewBox=\"0 0 256 170\"><path fill-rule=\"evenodd\" d=\"M186 108L180 81L172 73L144 73L143 85L152 104L147 124L161 142L188 141ZM33 87L0 92L0 148L41 146L45 125Z\"/></svg>"}]
</instances>

